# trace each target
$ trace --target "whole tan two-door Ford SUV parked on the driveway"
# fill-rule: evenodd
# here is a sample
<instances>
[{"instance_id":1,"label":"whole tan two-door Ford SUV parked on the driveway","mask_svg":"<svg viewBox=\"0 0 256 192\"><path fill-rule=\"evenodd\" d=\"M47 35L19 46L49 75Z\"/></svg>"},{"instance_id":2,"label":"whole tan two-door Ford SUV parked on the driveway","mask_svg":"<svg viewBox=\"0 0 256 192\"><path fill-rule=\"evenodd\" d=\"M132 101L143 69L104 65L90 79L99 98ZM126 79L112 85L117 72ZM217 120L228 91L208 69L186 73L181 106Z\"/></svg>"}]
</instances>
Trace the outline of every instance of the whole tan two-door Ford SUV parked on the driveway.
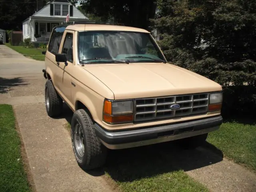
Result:
<instances>
[{"instance_id":1,"label":"whole tan two-door Ford SUV parked on the driveway","mask_svg":"<svg viewBox=\"0 0 256 192\"><path fill-rule=\"evenodd\" d=\"M46 51L49 116L74 112L71 138L81 168L102 166L107 149L178 140L203 144L222 124L222 87L166 62L150 32L86 22L56 26Z\"/></svg>"}]
</instances>

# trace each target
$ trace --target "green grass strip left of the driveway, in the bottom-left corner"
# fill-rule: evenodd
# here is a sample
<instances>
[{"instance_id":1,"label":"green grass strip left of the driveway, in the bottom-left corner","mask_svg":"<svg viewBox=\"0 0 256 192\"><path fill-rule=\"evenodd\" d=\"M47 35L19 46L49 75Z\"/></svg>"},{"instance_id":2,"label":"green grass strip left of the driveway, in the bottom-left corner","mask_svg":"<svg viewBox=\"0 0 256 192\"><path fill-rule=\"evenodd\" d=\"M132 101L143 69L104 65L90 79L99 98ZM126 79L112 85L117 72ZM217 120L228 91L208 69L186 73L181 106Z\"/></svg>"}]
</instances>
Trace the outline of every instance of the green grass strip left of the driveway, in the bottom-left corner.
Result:
<instances>
[{"instance_id":1,"label":"green grass strip left of the driveway, in the bottom-left corner","mask_svg":"<svg viewBox=\"0 0 256 192\"><path fill-rule=\"evenodd\" d=\"M22 165L20 138L10 105L0 105L0 146L0 191L31 191Z\"/></svg>"}]
</instances>

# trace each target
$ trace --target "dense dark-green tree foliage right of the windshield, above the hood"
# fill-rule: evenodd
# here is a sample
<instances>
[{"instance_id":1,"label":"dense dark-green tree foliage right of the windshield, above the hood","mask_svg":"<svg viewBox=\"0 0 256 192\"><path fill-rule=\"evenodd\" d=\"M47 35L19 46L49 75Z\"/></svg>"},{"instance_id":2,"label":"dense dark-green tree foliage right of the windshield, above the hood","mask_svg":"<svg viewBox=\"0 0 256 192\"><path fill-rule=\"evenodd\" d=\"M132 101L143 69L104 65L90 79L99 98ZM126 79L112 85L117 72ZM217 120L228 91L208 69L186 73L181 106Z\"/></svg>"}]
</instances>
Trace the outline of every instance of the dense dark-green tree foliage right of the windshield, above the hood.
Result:
<instances>
[{"instance_id":1,"label":"dense dark-green tree foliage right of the windshield, above the hood","mask_svg":"<svg viewBox=\"0 0 256 192\"><path fill-rule=\"evenodd\" d=\"M256 0L158 0L158 9L169 61L224 86L255 84Z\"/></svg>"}]
</instances>

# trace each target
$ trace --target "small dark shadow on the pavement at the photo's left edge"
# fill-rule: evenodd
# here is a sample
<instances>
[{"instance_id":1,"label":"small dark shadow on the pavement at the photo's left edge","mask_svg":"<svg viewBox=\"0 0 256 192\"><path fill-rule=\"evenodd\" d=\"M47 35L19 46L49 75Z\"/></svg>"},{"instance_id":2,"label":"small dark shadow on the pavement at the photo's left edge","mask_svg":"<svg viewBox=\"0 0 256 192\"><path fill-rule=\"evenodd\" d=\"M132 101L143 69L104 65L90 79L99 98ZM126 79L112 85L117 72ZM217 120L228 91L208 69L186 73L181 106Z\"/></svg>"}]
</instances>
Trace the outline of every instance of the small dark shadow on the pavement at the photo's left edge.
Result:
<instances>
[{"instance_id":1,"label":"small dark shadow on the pavement at the photo's left edge","mask_svg":"<svg viewBox=\"0 0 256 192\"><path fill-rule=\"evenodd\" d=\"M15 86L26 86L28 83L25 83L23 78L16 77L12 79L0 77L0 94L7 93L8 90Z\"/></svg>"}]
</instances>

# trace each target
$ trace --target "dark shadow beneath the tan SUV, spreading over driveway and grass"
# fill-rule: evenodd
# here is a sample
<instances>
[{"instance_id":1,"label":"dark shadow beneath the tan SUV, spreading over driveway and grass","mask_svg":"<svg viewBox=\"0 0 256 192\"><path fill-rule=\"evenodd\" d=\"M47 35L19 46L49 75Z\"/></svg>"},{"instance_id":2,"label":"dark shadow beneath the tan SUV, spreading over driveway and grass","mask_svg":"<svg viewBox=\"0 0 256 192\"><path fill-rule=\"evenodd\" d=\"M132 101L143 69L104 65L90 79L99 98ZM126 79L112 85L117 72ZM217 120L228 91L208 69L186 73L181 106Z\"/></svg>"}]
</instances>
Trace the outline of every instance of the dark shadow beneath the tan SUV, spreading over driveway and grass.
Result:
<instances>
[{"instance_id":1,"label":"dark shadow beneath the tan SUV, spreading over driveway and grass","mask_svg":"<svg viewBox=\"0 0 256 192\"><path fill-rule=\"evenodd\" d=\"M73 112L64 104L62 118L71 122ZM92 176L105 172L116 181L128 182L176 170L194 170L223 160L222 152L212 144L195 150L183 150L177 142L165 142L151 146L123 150L109 150L103 168L88 171Z\"/></svg>"}]
</instances>

